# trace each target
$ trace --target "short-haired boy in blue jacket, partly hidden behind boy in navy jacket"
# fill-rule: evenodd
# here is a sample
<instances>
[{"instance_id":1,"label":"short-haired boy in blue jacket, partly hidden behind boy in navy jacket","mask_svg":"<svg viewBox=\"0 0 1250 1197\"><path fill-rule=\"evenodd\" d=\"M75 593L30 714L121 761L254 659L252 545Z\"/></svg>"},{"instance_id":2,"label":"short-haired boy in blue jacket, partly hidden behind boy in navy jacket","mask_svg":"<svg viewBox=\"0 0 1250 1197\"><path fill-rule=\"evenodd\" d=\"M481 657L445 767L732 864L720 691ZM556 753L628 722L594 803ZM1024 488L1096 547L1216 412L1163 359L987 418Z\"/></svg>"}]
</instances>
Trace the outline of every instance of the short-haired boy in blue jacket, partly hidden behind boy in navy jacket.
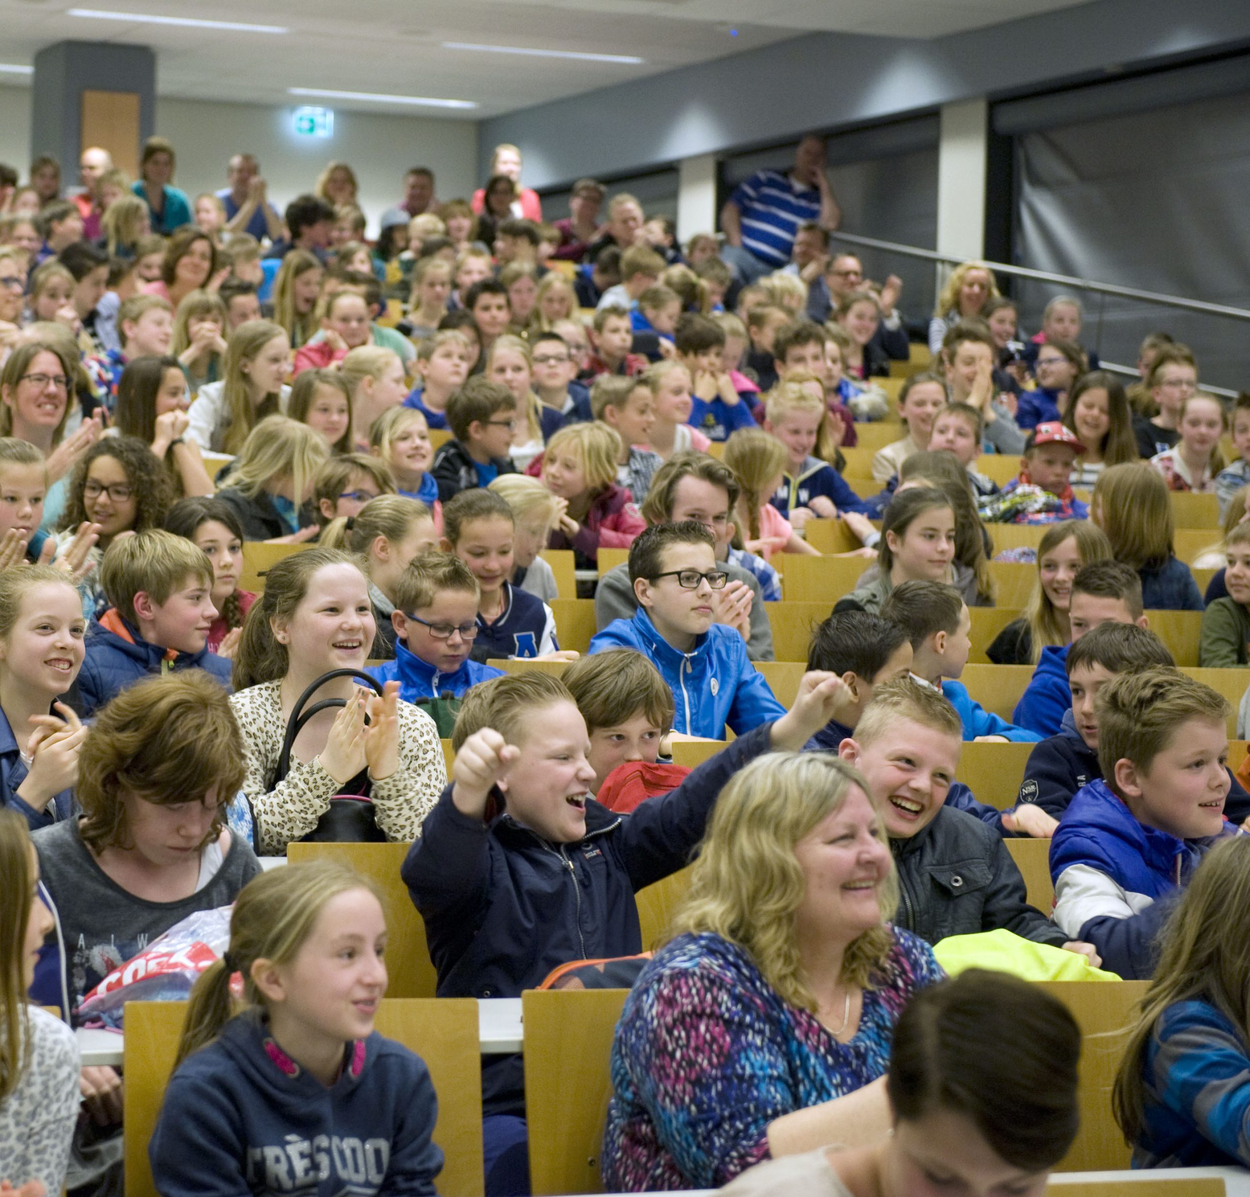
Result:
<instances>
[{"instance_id":1,"label":"short-haired boy in blue jacket, partly hidden behind boy in navy jacket","mask_svg":"<svg viewBox=\"0 0 1250 1197\"><path fill-rule=\"evenodd\" d=\"M1119 561L1091 561L1081 566L1072 579L1068 623L1072 645L1100 623L1146 627L1149 620L1142 612L1138 571ZM1064 715L1071 710L1066 666L1069 647L1046 645L1041 650L1032 678L1011 712L1018 727L1040 732L1041 736L1059 735Z\"/></svg>"}]
</instances>

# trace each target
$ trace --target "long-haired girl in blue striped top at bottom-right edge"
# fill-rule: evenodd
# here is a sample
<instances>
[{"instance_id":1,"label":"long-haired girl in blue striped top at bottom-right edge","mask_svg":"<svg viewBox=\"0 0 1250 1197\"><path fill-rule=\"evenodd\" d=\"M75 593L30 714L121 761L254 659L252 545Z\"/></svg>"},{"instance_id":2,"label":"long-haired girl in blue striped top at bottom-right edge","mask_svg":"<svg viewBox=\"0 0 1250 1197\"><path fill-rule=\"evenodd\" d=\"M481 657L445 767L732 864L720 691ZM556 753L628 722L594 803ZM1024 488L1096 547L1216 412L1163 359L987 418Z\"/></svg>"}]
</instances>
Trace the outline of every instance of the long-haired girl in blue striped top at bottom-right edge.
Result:
<instances>
[{"instance_id":1,"label":"long-haired girl in blue striped top at bottom-right edge","mask_svg":"<svg viewBox=\"0 0 1250 1197\"><path fill-rule=\"evenodd\" d=\"M1234 836L1210 850L1169 917L1129 1030L1111 1110L1134 1168L1250 1167L1248 903L1250 840Z\"/></svg>"}]
</instances>

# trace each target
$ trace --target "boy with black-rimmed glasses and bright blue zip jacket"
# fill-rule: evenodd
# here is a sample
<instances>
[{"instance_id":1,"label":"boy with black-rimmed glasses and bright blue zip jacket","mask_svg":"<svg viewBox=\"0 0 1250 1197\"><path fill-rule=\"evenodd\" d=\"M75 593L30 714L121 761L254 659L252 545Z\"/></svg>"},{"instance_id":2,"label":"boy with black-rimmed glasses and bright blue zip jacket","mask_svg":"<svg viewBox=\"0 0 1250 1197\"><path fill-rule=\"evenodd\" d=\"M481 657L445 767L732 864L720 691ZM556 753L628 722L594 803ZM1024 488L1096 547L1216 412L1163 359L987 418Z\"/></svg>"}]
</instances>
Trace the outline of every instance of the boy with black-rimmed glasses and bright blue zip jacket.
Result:
<instances>
[{"instance_id":1,"label":"boy with black-rimmed glasses and bright blue zip jacket","mask_svg":"<svg viewBox=\"0 0 1250 1197\"><path fill-rule=\"evenodd\" d=\"M715 545L694 520L641 532L629 554L638 611L612 620L590 641L590 651L644 653L672 691L674 730L724 740L726 723L741 736L780 718L785 707L755 671L741 635L715 622L712 596L729 580L716 565Z\"/></svg>"}]
</instances>

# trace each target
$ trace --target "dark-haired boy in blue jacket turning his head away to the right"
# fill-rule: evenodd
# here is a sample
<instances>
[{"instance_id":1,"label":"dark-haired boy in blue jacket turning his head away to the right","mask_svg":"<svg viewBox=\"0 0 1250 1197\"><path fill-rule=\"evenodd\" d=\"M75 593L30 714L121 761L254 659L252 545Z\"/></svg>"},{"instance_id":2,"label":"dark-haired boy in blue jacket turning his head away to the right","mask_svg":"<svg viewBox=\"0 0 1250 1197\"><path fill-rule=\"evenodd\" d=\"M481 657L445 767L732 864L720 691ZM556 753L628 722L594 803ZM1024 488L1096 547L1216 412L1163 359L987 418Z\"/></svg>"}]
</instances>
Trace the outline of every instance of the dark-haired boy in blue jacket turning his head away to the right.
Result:
<instances>
[{"instance_id":1,"label":"dark-haired boy in blue jacket turning his head away to the right","mask_svg":"<svg viewBox=\"0 0 1250 1197\"><path fill-rule=\"evenodd\" d=\"M959 711L964 740L1041 740L1036 732L1016 727L986 711L959 682L972 651L972 617L954 586L945 582L902 582L886 596L881 615L908 630L912 675L940 690Z\"/></svg>"}]
</instances>

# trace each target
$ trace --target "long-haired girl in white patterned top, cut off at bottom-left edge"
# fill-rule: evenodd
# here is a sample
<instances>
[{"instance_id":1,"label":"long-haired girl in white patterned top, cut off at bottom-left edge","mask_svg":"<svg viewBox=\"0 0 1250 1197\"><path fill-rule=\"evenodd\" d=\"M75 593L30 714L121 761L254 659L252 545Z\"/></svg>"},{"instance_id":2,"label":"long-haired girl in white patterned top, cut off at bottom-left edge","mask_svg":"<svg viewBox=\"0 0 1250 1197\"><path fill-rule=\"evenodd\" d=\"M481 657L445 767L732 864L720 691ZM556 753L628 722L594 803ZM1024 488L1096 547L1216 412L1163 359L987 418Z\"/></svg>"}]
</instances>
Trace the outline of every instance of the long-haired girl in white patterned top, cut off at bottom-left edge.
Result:
<instances>
[{"instance_id":1,"label":"long-haired girl in white patterned top, cut off at bottom-left edge","mask_svg":"<svg viewBox=\"0 0 1250 1197\"><path fill-rule=\"evenodd\" d=\"M81 1101L74 1032L28 996L52 927L26 821L0 810L0 1182L14 1197L61 1192Z\"/></svg>"}]
</instances>

